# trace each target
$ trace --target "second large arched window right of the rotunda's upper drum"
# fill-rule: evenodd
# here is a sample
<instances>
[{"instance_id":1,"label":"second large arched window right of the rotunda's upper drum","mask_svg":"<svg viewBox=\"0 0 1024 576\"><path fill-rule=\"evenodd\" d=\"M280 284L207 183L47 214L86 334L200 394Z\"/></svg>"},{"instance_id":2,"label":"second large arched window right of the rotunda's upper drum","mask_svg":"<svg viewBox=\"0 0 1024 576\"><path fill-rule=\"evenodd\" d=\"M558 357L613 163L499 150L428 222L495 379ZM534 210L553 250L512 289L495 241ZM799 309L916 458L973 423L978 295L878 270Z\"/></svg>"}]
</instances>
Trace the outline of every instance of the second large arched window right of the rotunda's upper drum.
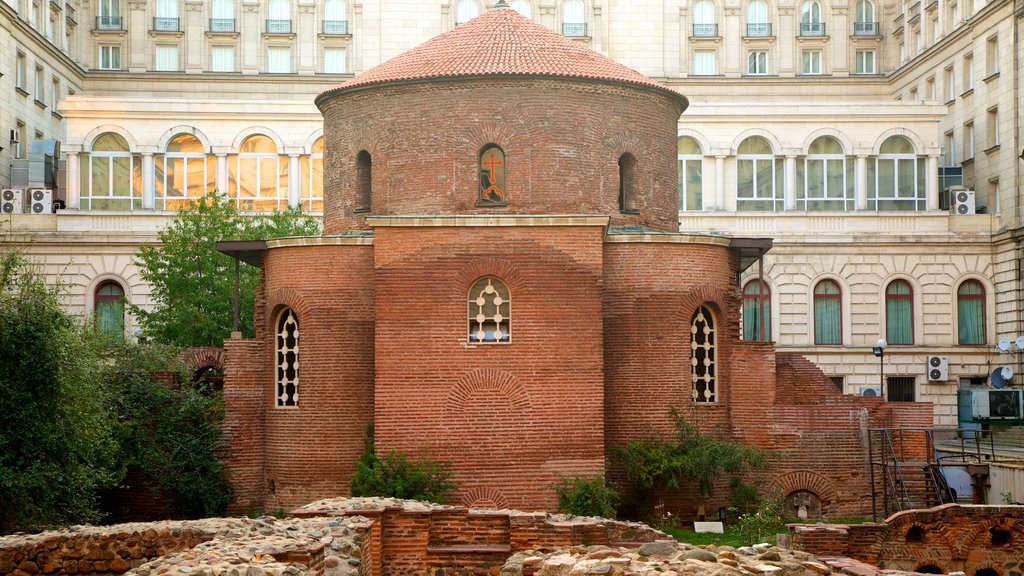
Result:
<instances>
[{"instance_id":1,"label":"second large arched window right of the rotunda's upper drum","mask_svg":"<svg viewBox=\"0 0 1024 576\"><path fill-rule=\"evenodd\" d=\"M784 170L775 165L771 145L751 136L736 149L736 210L782 210Z\"/></svg>"}]
</instances>

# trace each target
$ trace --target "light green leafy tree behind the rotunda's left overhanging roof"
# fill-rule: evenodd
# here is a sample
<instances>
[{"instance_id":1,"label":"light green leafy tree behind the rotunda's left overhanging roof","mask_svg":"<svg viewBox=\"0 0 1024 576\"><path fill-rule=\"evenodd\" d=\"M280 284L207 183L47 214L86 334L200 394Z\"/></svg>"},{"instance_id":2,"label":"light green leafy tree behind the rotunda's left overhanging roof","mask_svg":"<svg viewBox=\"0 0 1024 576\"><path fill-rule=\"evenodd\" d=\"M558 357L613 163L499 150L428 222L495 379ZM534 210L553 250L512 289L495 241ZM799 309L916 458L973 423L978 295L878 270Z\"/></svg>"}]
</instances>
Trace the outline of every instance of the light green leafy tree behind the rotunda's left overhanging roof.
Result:
<instances>
[{"instance_id":1,"label":"light green leafy tree behind the rotunda's left overhanging roof","mask_svg":"<svg viewBox=\"0 0 1024 576\"><path fill-rule=\"evenodd\" d=\"M131 306L147 336L179 346L219 346L231 331L234 260L216 250L218 240L315 236L319 220L299 210L242 214L224 195L197 199L160 233L160 244L139 249L142 280L154 308ZM260 273L242 265L239 324L252 336L254 294Z\"/></svg>"}]
</instances>

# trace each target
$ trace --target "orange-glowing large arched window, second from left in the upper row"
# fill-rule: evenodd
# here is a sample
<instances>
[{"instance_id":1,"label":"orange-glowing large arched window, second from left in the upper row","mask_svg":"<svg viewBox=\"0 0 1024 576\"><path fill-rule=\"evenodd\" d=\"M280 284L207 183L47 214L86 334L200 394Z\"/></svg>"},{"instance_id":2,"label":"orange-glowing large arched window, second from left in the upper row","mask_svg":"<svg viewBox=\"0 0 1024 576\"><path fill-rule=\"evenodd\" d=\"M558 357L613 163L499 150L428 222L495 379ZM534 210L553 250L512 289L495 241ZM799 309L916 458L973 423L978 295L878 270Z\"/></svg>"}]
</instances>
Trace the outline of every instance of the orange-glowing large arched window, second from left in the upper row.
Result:
<instances>
[{"instance_id":1,"label":"orange-glowing large arched window, second from left in the upper row","mask_svg":"<svg viewBox=\"0 0 1024 576\"><path fill-rule=\"evenodd\" d=\"M217 188L215 160L191 134L178 134L164 154L154 156L154 190L158 210L178 210Z\"/></svg>"}]
</instances>

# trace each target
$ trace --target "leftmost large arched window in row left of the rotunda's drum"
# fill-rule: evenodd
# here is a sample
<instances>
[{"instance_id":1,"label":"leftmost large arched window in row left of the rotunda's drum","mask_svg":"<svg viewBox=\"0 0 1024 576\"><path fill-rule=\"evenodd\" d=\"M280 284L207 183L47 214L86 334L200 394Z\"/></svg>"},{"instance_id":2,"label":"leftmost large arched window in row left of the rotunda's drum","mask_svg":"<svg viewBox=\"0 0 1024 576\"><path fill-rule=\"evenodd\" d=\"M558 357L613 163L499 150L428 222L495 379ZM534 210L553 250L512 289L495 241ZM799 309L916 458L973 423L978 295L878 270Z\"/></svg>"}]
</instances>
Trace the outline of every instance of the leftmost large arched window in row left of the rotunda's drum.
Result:
<instances>
[{"instance_id":1,"label":"leftmost large arched window in row left of the rotunda's drum","mask_svg":"<svg viewBox=\"0 0 1024 576\"><path fill-rule=\"evenodd\" d=\"M83 210L134 210L142 207L142 159L128 142L106 132L83 155L81 207Z\"/></svg>"}]
</instances>

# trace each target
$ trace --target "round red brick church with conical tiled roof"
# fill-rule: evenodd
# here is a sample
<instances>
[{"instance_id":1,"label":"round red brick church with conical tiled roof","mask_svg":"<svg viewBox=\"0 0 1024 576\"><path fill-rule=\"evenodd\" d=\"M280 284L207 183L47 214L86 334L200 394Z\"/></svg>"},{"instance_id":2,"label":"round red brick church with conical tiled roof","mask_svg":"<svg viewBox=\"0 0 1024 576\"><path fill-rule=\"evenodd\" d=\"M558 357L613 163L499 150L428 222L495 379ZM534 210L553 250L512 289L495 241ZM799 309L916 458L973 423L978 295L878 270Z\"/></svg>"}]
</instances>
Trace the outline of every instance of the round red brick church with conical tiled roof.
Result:
<instances>
[{"instance_id":1,"label":"round red brick church with conical tiled roof","mask_svg":"<svg viewBox=\"0 0 1024 576\"><path fill-rule=\"evenodd\" d=\"M862 430L930 425L740 339L770 242L678 232L678 92L500 5L316 105L324 236L222 245L263 272L256 337L225 343L236 508L347 494L373 424L461 503L550 509L675 407L863 512Z\"/></svg>"}]
</instances>

